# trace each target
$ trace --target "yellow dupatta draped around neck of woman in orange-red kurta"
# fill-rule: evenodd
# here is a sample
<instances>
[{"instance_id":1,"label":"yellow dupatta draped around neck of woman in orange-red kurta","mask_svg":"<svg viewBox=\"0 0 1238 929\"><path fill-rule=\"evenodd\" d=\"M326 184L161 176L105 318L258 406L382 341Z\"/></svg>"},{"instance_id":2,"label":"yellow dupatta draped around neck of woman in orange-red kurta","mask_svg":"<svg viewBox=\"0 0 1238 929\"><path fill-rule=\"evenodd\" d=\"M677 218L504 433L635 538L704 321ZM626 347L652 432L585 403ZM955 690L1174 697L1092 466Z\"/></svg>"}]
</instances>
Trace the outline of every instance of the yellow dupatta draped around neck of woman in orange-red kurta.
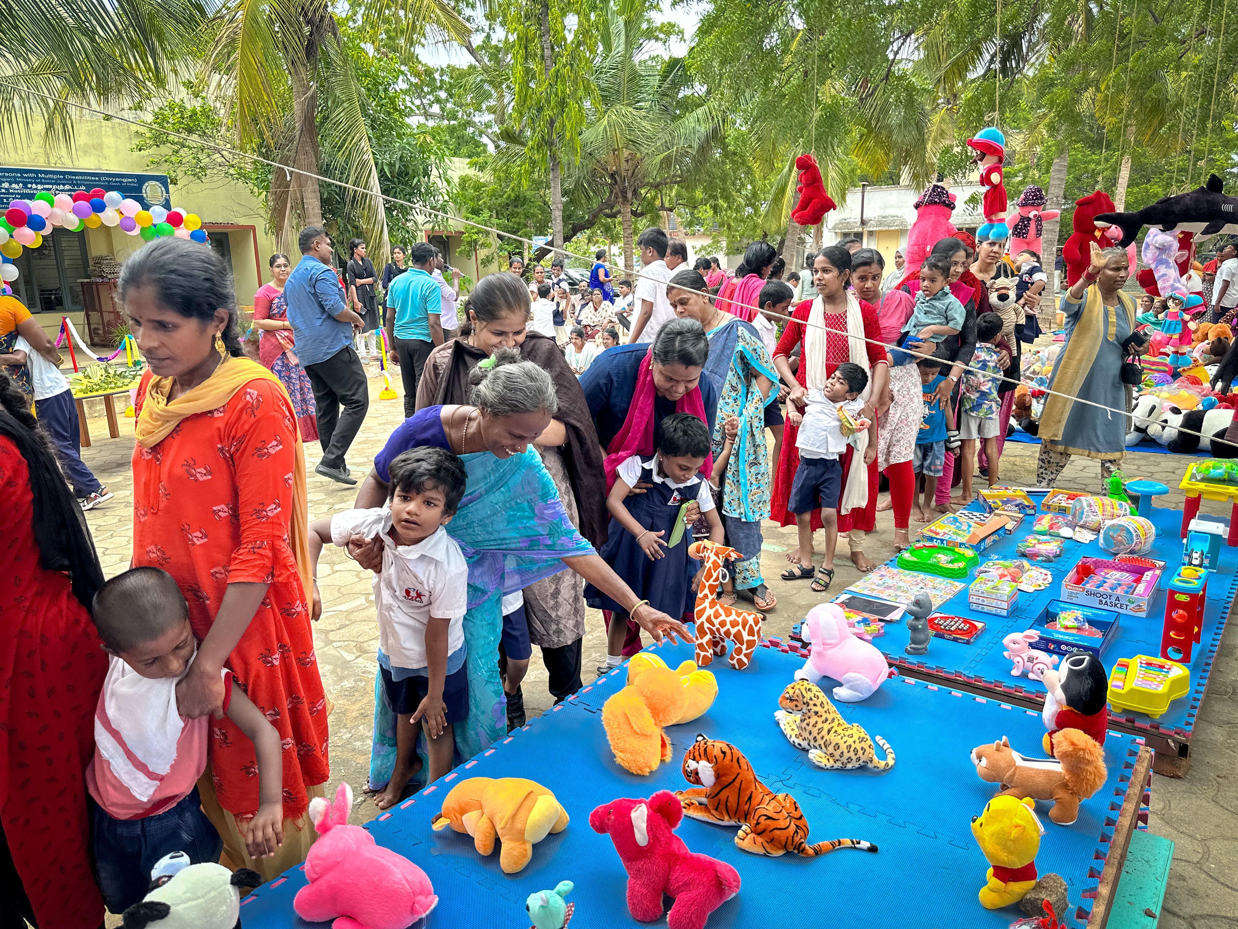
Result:
<instances>
[{"instance_id":1,"label":"yellow dupatta draped around neck of woman in orange-red kurta","mask_svg":"<svg viewBox=\"0 0 1238 929\"><path fill-rule=\"evenodd\" d=\"M217 410L251 380L269 380L280 388L280 394L292 415L296 435L296 453L292 469L292 523L288 526L288 544L297 562L297 574L305 586L306 601L313 597L313 577L310 571L310 494L306 487L306 456L301 442L301 430L296 427L292 400L280 379L258 362L249 358L224 358L214 373L198 386L184 391L175 400L167 395L172 378L152 377L146 385L146 400L137 416L137 442L150 448L163 441L186 416Z\"/></svg>"}]
</instances>

